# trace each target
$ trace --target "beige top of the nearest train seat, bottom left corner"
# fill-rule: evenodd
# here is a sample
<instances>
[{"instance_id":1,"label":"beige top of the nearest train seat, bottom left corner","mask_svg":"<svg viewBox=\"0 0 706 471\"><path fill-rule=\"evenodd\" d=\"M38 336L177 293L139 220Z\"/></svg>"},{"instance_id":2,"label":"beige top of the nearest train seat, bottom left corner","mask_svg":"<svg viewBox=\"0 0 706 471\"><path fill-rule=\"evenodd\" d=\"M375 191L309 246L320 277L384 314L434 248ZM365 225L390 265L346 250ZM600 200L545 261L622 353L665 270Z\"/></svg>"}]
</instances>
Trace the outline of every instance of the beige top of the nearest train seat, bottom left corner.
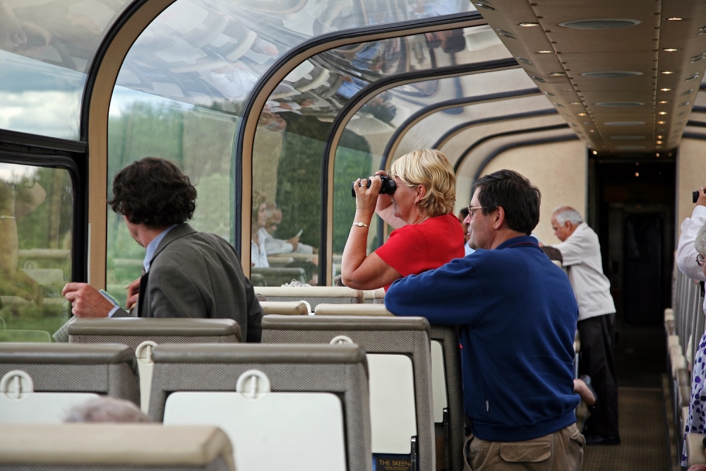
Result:
<instances>
[{"instance_id":1,"label":"beige top of the nearest train seat, bottom left corner","mask_svg":"<svg viewBox=\"0 0 706 471\"><path fill-rule=\"evenodd\" d=\"M0 427L0 470L235 471L216 427L16 424Z\"/></svg>"}]
</instances>

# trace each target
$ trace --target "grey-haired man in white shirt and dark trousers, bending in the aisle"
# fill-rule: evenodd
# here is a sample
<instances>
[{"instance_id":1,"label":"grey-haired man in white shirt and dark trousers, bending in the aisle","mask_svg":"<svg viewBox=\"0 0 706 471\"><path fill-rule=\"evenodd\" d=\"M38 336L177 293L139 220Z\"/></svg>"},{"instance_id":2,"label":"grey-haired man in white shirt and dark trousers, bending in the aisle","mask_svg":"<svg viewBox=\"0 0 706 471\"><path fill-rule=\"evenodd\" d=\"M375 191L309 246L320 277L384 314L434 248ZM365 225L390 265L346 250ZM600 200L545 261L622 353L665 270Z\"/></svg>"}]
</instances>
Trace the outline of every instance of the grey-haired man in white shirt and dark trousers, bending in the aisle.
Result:
<instances>
[{"instance_id":1,"label":"grey-haired man in white shirt and dark trousers, bending in the aisle","mask_svg":"<svg viewBox=\"0 0 706 471\"><path fill-rule=\"evenodd\" d=\"M603 274L598 235L574 208L554 210L551 227L561 244L563 266L578 302L578 332L581 338L580 374L588 374L598 395L597 410L587 420L587 444L617 445L618 382L613 361L615 304L611 283Z\"/></svg>"}]
</instances>

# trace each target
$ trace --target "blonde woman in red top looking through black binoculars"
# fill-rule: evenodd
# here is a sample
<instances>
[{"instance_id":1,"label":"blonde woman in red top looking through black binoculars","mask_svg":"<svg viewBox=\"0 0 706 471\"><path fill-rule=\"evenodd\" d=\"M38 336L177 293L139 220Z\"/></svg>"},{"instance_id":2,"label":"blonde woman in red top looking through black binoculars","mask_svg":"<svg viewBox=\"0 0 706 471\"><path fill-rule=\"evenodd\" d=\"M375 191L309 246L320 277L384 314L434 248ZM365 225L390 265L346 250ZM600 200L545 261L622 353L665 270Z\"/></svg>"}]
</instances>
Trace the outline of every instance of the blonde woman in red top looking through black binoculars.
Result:
<instances>
[{"instance_id":1,"label":"blonde woman in red top looking through black binoculars","mask_svg":"<svg viewBox=\"0 0 706 471\"><path fill-rule=\"evenodd\" d=\"M397 189L380 194L381 175L355 181L356 213L343 251L341 273L347 287L387 289L407 275L438 268L464 256L463 229L453 215L456 177L438 150L414 150L393 162L390 177ZM366 256L373 213L395 230L388 241Z\"/></svg>"}]
</instances>

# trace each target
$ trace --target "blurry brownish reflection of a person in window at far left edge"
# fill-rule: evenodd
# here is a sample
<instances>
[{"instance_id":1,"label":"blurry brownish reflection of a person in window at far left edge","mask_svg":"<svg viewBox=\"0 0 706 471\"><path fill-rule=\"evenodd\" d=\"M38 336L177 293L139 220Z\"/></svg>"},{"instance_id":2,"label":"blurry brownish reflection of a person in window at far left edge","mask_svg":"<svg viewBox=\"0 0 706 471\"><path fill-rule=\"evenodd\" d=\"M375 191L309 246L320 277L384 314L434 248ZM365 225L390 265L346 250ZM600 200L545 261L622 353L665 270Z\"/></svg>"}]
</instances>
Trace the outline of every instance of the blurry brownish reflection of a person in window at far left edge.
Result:
<instances>
[{"instance_id":1,"label":"blurry brownish reflection of a person in window at far left edge","mask_svg":"<svg viewBox=\"0 0 706 471\"><path fill-rule=\"evenodd\" d=\"M42 302L42 291L35 280L17 269L19 239L17 221L31 213L47 198L47 192L33 178L18 183L0 177L0 294Z\"/></svg>"}]
</instances>

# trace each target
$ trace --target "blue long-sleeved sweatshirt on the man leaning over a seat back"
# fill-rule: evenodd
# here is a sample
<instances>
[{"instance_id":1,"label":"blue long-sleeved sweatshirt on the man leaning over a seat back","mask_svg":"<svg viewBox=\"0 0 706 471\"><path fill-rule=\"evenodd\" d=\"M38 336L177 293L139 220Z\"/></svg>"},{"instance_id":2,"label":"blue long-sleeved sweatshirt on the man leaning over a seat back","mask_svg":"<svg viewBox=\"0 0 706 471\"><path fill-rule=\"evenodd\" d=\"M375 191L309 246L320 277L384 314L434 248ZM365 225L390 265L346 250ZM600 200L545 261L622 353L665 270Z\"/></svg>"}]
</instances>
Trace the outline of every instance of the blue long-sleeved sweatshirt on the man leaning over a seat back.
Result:
<instances>
[{"instance_id":1,"label":"blue long-sleeved sweatshirt on the man leaning over a seat back","mask_svg":"<svg viewBox=\"0 0 706 471\"><path fill-rule=\"evenodd\" d=\"M525 441L576 422L578 305L534 237L401 278L385 307L459 326L465 411L479 439Z\"/></svg>"}]
</instances>

